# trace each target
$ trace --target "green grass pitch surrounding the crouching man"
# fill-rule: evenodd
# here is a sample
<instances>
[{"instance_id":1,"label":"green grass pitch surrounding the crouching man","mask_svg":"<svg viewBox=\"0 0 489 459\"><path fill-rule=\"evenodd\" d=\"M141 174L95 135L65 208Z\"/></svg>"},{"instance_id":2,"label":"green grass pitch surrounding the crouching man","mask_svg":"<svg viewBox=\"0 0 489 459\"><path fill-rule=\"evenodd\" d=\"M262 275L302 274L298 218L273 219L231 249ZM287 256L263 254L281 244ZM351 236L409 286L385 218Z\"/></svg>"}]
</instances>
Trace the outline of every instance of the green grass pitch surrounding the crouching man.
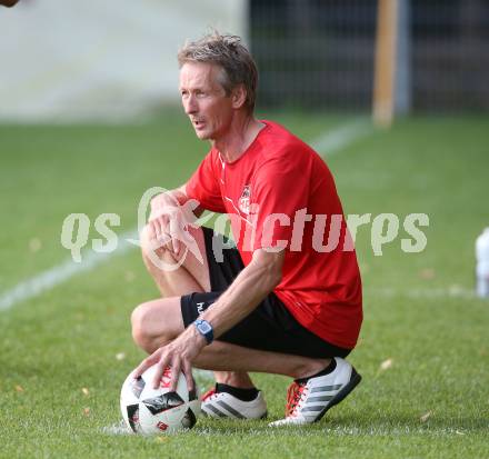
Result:
<instances>
[{"instance_id":1,"label":"green grass pitch surrounding the crouching man","mask_svg":"<svg viewBox=\"0 0 489 459\"><path fill-rule=\"evenodd\" d=\"M342 122L273 118L308 140ZM157 296L132 251L0 311L0 457L489 457L489 301L471 295L473 242L489 224L488 144L487 118L415 118L328 159L347 213L426 212L430 227L423 252L400 250L401 229L382 257L372 253L370 227L360 228L365 326L351 361L363 381L321 422L271 430L200 419L160 439L104 433L142 357L130 311ZM181 116L0 126L0 292L69 257L59 241L68 213L119 213L121 235L134 227L142 192L181 183L206 150ZM271 419L280 418L289 381L256 380Z\"/></svg>"}]
</instances>

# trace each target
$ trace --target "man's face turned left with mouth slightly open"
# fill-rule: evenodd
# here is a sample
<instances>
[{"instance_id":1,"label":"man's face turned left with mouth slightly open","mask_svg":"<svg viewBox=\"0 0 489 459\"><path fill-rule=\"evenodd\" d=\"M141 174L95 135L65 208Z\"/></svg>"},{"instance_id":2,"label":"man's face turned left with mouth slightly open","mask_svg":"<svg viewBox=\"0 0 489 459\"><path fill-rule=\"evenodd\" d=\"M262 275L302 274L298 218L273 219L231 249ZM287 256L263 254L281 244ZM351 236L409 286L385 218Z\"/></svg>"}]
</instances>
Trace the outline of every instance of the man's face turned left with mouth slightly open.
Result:
<instances>
[{"instance_id":1,"label":"man's face turned left with mouth slightly open","mask_svg":"<svg viewBox=\"0 0 489 459\"><path fill-rule=\"evenodd\" d=\"M180 94L183 109L200 140L217 140L229 129L233 109L211 63L187 62L180 69Z\"/></svg>"}]
</instances>

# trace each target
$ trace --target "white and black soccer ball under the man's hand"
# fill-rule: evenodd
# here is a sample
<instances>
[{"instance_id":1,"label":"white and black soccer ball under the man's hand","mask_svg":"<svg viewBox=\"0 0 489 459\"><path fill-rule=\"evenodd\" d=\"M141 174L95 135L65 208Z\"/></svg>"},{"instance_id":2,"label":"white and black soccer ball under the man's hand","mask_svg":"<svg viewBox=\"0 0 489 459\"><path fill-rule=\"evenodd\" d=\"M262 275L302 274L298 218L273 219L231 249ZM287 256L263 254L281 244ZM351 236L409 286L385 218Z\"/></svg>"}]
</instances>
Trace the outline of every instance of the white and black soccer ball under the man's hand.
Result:
<instances>
[{"instance_id":1,"label":"white and black soccer ball under the man's hand","mask_svg":"<svg viewBox=\"0 0 489 459\"><path fill-rule=\"evenodd\" d=\"M153 389L154 372L156 366L152 366L138 379L130 373L122 385L120 409L128 429L142 435L191 429L200 415L198 393L189 393L182 372L177 390L170 392L171 368L164 369L160 387Z\"/></svg>"}]
</instances>

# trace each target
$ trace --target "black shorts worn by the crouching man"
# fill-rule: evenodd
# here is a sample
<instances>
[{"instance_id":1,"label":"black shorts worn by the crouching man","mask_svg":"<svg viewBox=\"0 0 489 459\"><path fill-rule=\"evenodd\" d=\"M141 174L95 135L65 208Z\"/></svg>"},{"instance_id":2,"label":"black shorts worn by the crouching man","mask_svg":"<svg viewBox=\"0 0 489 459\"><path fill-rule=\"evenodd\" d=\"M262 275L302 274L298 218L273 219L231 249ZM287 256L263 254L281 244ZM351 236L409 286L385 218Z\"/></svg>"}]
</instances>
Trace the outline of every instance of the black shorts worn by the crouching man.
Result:
<instances>
[{"instance_id":1,"label":"black shorts worn by the crouching man","mask_svg":"<svg viewBox=\"0 0 489 459\"><path fill-rule=\"evenodd\" d=\"M223 261L216 261L212 251L213 231L209 228L202 230L211 291L181 297L186 327L209 308L244 268L237 249L224 249ZM218 339L246 348L312 358L347 357L351 351L331 345L302 327L273 292Z\"/></svg>"}]
</instances>

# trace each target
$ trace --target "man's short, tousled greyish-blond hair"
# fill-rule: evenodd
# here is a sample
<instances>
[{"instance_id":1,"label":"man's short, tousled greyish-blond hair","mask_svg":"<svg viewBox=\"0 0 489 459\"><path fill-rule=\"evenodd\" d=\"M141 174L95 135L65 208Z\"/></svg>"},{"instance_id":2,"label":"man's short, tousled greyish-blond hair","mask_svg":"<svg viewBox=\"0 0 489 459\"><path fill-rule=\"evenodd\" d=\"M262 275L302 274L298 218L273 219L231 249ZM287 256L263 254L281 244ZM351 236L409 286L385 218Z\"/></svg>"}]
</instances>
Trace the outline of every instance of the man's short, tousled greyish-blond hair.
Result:
<instances>
[{"instance_id":1,"label":"man's short, tousled greyish-blond hair","mask_svg":"<svg viewBox=\"0 0 489 459\"><path fill-rule=\"evenodd\" d=\"M258 70L253 58L237 36L217 31L197 41L188 41L178 52L180 68L187 62L206 62L219 66L223 72L222 88L229 96L231 90L243 84L247 91L246 106L253 112L257 99Z\"/></svg>"}]
</instances>

